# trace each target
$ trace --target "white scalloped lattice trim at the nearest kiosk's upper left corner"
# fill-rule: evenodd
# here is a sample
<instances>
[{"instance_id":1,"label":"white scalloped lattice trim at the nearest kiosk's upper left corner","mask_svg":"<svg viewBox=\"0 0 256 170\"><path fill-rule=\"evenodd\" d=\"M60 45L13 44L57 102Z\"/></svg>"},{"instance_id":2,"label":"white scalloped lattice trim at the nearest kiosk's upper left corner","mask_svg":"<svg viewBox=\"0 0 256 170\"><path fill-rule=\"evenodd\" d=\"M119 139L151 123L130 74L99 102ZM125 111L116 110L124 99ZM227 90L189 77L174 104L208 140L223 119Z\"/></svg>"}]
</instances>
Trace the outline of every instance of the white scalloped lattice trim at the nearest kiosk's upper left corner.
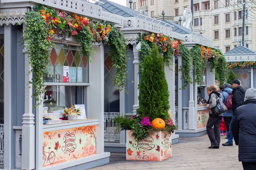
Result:
<instances>
[{"instance_id":1,"label":"white scalloped lattice trim at the nearest kiosk's upper left corner","mask_svg":"<svg viewBox=\"0 0 256 170\"><path fill-rule=\"evenodd\" d=\"M0 26L23 22L27 11L28 8L0 9Z\"/></svg>"}]
</instances>

